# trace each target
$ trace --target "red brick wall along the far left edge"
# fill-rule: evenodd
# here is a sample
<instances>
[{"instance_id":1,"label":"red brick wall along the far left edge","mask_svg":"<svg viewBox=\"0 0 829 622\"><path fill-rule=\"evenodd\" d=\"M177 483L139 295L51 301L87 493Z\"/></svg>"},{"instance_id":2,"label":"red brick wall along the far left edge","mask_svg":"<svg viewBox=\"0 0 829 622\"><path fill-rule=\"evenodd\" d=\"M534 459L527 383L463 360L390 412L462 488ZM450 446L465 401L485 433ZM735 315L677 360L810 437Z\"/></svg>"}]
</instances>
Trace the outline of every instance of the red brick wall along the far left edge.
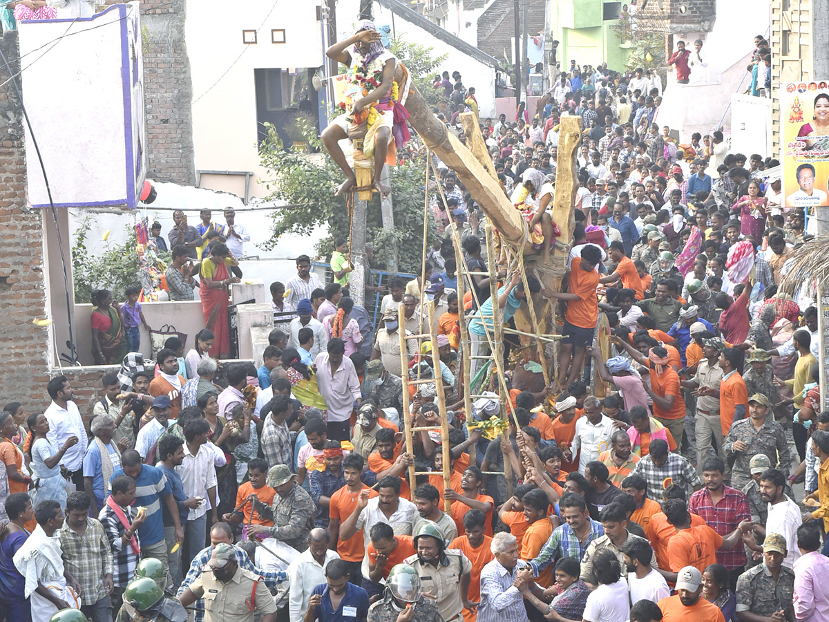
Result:
<instances>
[{"instance_id":1,"label":"red brick wall along the far left edge","mask_svg":"<svg viewBox=\"0 0 829 622\"><path fill-rule=\"evenodd\" d=\"M0 50L17 73L17 32L0 36ZM0 406L36 408L49 381L49 329L32 323L47 314L43 227L41 212L27 209L23 109L8 78L0 61Z\"/></svg>"}]
</instances>

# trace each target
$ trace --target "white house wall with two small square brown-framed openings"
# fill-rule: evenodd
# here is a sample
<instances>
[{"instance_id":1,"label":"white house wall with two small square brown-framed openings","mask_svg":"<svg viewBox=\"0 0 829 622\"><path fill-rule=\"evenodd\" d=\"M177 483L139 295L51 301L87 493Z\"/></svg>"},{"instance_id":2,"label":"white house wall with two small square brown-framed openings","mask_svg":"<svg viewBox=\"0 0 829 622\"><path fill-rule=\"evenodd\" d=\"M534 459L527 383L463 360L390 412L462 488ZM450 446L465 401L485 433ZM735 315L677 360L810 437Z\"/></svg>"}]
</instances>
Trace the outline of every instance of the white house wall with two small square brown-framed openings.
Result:
<instances>
[{"instance_id":1,"label":"white house wall with two small square brown-framed openings","mask_svg":"<svg viewBox=\"0 0 829 622\"><path fill-rule=\"evenodd\" d=\"M264 197L256 150L254 70L318 67L323 63L318 0L253 0L233 10L224 0L187 3L187 54L193 87L196 170L252 171L250 194ZM285 43L271 42L271 29L285 30ZM245 45L243 30L258 30ZM244 196L244 177L211 176L203 186Z\"/></svg>"}]
</instances>

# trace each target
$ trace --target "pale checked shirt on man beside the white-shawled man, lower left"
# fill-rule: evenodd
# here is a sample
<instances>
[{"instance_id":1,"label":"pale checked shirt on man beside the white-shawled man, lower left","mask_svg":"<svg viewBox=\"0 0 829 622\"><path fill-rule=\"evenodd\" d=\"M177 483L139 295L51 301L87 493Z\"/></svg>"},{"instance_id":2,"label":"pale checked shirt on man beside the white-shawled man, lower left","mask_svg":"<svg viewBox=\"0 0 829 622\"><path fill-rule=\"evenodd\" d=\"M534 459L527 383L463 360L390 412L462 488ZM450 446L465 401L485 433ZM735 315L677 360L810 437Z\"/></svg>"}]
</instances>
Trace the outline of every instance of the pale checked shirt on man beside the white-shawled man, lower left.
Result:
<instances>
[{"instance_id":1,"label":"pale checked shirt on man beside the white-shawled man, lower left","mask_svg":"<svg viewBox=\"0 0 829 622\"><path fill-rule=\"evenodd\" d=\"M83 536L70 529L66 522L58 533L65 571L80 583L85 602L94 605L108 595L104 577L113 574L112 552L104 526L95 518L86 518Z\"/></svg>"}]
</instances>

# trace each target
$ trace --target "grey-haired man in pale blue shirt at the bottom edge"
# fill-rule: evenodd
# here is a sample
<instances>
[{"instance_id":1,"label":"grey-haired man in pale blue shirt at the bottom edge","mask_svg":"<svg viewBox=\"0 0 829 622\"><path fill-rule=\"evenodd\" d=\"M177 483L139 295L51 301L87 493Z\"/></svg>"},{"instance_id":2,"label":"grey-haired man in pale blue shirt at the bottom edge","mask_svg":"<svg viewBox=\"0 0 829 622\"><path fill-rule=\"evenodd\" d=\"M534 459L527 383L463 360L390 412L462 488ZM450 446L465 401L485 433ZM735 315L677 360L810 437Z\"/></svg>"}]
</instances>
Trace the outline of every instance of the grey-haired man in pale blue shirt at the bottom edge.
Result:
<instances>
[{"instance_id":1,"label":"grey-haired man in pale blue shirt at the bottom edge","mask_svg":"<svg viewBox=\"0 0 829 622\"><path fill-rule=\"evenodd\" d=\"M490 547L495 559L481 571L478 622L527 620L525 595L531 602L539 599L530 593L530 586L534 586L532 569L526 561L518 559L516 537L507 532L497 533Z\"/></svg>"}]
</instances>

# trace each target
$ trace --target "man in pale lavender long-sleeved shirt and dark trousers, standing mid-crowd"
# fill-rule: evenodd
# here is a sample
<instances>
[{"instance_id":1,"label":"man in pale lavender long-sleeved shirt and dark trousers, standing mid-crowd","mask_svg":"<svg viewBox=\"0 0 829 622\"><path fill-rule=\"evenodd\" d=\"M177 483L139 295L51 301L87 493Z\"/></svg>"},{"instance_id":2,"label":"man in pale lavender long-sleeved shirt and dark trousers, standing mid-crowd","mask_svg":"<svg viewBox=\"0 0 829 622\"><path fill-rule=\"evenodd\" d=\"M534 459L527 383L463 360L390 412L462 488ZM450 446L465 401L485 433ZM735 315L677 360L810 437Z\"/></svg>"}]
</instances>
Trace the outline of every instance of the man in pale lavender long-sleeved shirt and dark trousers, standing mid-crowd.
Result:
<instances>
[{"instance_id":1,"label":"man in pale lavender long-sleeved shirt and dark trousers, standing mid-crowd","mask_svg":"<svg viewBox=\"0 0 829 622\"><path fill-rule=\"evenodd\" d=\"M335 337L328 342L327 352L320 352L314 361L319 394L328 406L328 438L340 441L349 440L351 412L362 399L354 363L345 352L346 344Z\"/></svg>"}]
</instances>

